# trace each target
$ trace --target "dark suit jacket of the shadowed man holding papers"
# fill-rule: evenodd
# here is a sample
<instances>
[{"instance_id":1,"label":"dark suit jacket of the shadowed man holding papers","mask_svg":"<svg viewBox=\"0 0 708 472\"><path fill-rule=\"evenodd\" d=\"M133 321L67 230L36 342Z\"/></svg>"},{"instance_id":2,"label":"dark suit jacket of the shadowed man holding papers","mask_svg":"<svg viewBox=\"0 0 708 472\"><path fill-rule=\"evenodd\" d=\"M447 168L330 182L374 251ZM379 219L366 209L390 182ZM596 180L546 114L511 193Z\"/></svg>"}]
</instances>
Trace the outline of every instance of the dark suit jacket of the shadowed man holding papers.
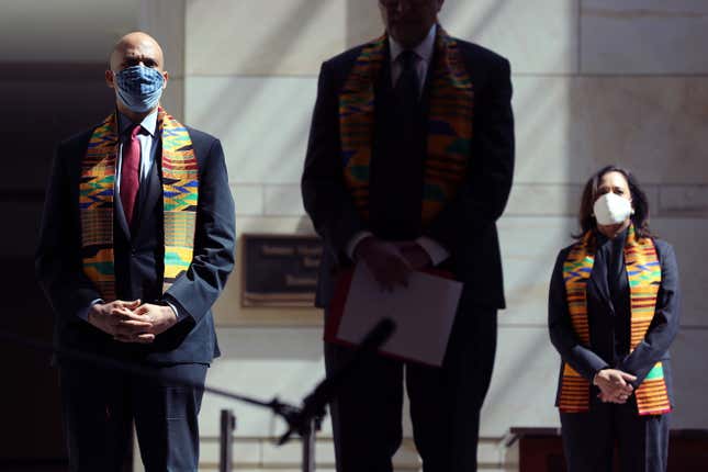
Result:
<instances>
[{"instance_id":1,"label":"dark suit jacket of the shadowed man holding papers","mask_svg":"<svg viewBox=\"0 0 708 472\"><path fill-rule=\"evenodd\" d=\"M510 66L488 49L457 41L474 88L469 170L454 200L413 238L430 237L450 252L445 266L464 282L461 308L470 304L503 308L495 222L506 205L514 173ZM345 186L339 143L339 93L362 47L345 52L322 66L302 177L305 210L325 247L316 300L321 307L331 299L338 269L351 265L346 256L347 243L360 231L372 231L357 213ZM385 60L387 65L390 59ZM384 141L374 138L372 162L382 155L386 157ZM390 182L390 192L395 189L396 182Z\"/></svg>"}]
</instances>

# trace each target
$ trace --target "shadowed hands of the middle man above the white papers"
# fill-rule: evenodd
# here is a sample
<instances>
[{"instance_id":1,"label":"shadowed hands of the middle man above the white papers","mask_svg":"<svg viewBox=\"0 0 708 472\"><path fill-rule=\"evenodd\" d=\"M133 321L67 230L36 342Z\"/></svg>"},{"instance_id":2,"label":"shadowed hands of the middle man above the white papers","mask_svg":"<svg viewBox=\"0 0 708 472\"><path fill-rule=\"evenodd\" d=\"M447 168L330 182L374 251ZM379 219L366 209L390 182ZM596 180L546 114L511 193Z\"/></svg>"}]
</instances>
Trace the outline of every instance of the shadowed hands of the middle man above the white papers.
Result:
<instances>
[{"instance_id":1,"label":"shadowed hands of the middle man above the white papers","mask_svg":"<svg viewBox=\"0 0 708 472\"><path fill-rule=\"evenodd\" d=\"M415 241L391 243L368 236L356 248L356 259L362 260L383 290L407 286L414 270L431 265L428 254Z\"/></svg>"}]
</instances>

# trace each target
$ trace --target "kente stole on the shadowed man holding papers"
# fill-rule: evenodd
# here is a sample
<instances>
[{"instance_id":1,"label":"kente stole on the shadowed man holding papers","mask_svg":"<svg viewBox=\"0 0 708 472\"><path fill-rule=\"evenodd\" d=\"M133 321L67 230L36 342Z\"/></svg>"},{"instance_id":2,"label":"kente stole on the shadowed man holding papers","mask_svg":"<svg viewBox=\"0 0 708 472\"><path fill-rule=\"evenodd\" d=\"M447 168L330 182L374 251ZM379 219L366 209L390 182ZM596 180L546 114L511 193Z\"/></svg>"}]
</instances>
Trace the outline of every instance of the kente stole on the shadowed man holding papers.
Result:
<instances>
[{"instance_id":1,"label":"kente stole on the shadowed man holding papers","mask_svg":"<svg viewBox=\"0 0 708 472\"><path fill-rule=\"evenodd\" d=\"M374 87L386 56L386 35L367 44L339 95L341 157L355 206L369 217L369 169L374 130ZM473 88L458 43L438 26L430 76L423 224L442 210L464 180L471 158ZM424 78L422 78L424 79Z\"/></svg>"}]
</instances>

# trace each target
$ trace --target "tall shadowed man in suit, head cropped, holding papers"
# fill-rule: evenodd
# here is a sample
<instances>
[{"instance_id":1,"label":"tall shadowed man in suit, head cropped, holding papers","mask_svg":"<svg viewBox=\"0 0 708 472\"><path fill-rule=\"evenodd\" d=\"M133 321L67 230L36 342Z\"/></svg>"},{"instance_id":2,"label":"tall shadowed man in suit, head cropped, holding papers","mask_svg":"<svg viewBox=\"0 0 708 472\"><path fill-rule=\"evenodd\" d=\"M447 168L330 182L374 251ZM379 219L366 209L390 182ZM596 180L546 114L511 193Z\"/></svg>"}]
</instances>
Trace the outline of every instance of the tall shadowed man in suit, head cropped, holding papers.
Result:
<instances>
[{"instance_id":1,"label":"tall shadowed man in suit, head cropped, holding papers","mask_svg":"<svg viewBox=\"0 0 708 472\"><path fill-rule=\"evenodd\" d=\"M302 178L325 245L317 305L327 313L358 261L386 290L432 267L464 289L441 368L377 356L352 374L331 405L337 470L392 470L405 379L424 470L474 471L505 304L495 222L514 168L509 63L450 37L437 24L442 0L379 7L386 34L319 74ZM327 371L350 353L326 344Z\"/></svg>"}]
</instances>

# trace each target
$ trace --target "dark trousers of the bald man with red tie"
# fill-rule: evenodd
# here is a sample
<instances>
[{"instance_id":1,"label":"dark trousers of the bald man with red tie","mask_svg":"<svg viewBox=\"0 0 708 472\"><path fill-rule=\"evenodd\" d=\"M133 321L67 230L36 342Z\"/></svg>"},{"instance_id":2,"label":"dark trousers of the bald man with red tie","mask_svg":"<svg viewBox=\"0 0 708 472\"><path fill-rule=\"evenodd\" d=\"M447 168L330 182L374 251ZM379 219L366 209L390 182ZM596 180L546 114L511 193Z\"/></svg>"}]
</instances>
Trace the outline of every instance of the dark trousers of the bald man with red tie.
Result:
<instances>
[{"instance_id":1,"label":"dark trousers of the bald man with red tie","mask_svg":"<svg viewBox=\"0 0 708 472\"><path fill-rule=\"evenodd\" d=\"M60 366L64 423L71 471L120 471L135 431L147 472L196 471L196 416L203 391L169 375L204 384L206 364L159 368L147 379L87 366Z\"/></svg>"}]
</instances>

